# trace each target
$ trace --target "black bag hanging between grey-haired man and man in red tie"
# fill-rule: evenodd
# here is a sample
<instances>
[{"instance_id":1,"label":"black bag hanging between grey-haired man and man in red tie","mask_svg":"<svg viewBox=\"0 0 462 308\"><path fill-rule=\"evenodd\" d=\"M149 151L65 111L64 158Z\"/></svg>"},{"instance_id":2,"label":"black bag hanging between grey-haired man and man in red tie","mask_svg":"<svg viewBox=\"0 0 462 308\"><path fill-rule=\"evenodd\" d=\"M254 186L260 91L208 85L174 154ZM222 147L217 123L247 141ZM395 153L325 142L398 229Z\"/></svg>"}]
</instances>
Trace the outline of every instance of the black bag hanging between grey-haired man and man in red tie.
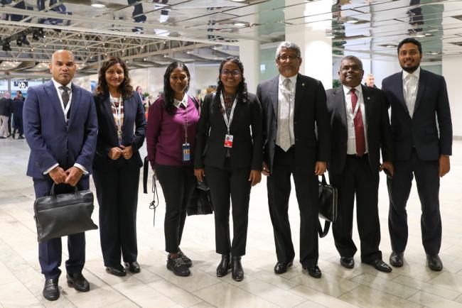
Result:
<instances>
[{"instance_id":1,"label":"black bag hanging between grey-haired man and man in red tie","mask_svg":"<svg viewBox=\"0 0 462 308\"><path fill-rule=\"evenodd\" d=\"M329 232L331 222L337 219L337 188L328 185L326 182L326 176L322 175L322 181L318 182L319 194L318 194L318 216L321 219L326 220L324 222L324 230L321 226L321 221L318 219L318 233L319 237L323 238Z\"/></svg>"}]
</instances>

